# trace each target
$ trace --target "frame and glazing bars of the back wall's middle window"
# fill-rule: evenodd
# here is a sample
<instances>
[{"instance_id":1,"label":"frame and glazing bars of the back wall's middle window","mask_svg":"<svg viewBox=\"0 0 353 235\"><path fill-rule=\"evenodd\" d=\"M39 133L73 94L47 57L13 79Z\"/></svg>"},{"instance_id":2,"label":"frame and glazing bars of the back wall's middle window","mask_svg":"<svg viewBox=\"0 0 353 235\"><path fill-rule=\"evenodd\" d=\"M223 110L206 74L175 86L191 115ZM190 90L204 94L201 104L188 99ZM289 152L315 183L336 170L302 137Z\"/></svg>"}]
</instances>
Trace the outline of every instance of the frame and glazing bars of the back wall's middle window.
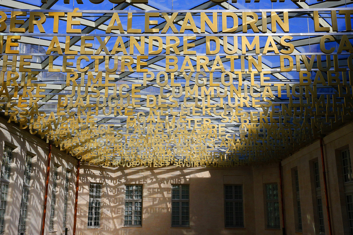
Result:
<instances>
[{"instance_id":1,"label":"frame and glazing bars of the back wall's middle window","mask_svg":"<svg viewBox=\"0 0 353 235\"><path fill-rule=\"evenodd\" d=\"M179 186L179 193L178 194L175 194L175 195L178 195L179 198L173 198L173 186ZM183 197L183 186L187 186L187 191L188 191L188 194L187 194L187 199L186 198L182 198ZM184 189L186 190L186 189ZM177 190L175 190L177 191ZM186 195L186 194L185 194ZM190 227L190 184L172 184L172 192L171 192L171 198L172 198L172 204L171 204L171 216L170 216L170 225L171 227L173 228L189 228ZM179 203L179 224L173 224L173 203ZM188 204L188 210L187 210L187 217L188 217L188 220L187 220L187 224L182 224L183 222L183 215L182 215L182 212L183 212L183 203L187 203ZM175 206L176 207L176 206ZM175 220L176 221L176 220Z\"/></svg>"}]
</instances>

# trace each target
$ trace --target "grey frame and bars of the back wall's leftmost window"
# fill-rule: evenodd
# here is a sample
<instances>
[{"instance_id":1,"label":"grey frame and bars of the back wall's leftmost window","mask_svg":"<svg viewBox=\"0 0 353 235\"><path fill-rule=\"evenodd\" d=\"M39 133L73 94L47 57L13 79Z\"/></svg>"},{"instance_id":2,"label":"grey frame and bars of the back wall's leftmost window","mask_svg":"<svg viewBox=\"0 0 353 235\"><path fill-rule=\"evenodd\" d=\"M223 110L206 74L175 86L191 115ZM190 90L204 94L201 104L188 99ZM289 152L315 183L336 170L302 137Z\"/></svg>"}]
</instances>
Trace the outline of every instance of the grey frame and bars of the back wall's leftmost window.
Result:
<instances>
[{"instance_id":1,"label":"grey frame and bars of the back wall's leftmost window","mask_svg":"<svg viewBox=\"0 0 353 235\"><path fill-rule=\"evenodd\" d=\"M94 187L91 187L91 185L94 185ZM99 194L96 194L97 190L97 185L100 185L100 188L98 189ZM101 227L101 207L102 207L102 186L103 184L101 183L96 183L96 182L90 182L89 184L89 200L88 200L88 217L87 217L87 228L100 228ZM93 191L93 194L91 193L91 190ZM97 197L97 195L99 197ZM90 203L93 203L92 205L92 221L90 221ZM99 206L96 205L96 203L99 203ZM99 211L99 215L97 216L97 213ZM96 218L99 218L96 220ZM98 225L94 225L95 222L98 221ZM91 225L89 223L91 222Z\"/></svg>"}]
</instances>

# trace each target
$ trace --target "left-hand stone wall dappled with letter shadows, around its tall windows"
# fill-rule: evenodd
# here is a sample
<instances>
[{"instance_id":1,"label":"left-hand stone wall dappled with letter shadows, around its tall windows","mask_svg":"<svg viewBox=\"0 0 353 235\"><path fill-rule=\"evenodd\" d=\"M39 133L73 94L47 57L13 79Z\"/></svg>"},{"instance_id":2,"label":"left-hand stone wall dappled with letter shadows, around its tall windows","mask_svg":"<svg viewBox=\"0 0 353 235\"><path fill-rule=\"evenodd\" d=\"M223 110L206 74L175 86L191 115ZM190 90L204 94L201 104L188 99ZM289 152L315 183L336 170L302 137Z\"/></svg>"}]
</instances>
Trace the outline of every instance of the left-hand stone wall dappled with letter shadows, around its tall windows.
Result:
<instances>
[{"instance_id":1,"label":"left-hand stone wall dappled with letter shadows, around its tall windows","mask_svg":"<svg viewBox=\"0 0 353 235\"><path fill-rule=\"evenodd\" d=\"M26 130L8 124L1 119L0 123L0 156L3 156L4 145L13 148L10 184L8 186L7 203L5 210L5 235L17 235L22 188L24 180L24 168L26 154L32 156L32 170L29 188L28 212L25 234L39 235L41 232L44 193L46 183L46 171L48 165L48 144L42 139L30 134ZM0 161L2 164L2 158ZM54 164L58 166L57 192L54 214L54 232L48 233L50 203L52 196L52 179ZM64 212L64 183L66 170L71 171L68 187L67 201L67 228L72 234L74 197L76 192L76 167L77 160L65 154L55 146L52 147L50 161L49 190L47 199L46 224L44 234L62 234L62 220ZM56 231L56 232L55 232Z\"/></svg>"}]
</instances>

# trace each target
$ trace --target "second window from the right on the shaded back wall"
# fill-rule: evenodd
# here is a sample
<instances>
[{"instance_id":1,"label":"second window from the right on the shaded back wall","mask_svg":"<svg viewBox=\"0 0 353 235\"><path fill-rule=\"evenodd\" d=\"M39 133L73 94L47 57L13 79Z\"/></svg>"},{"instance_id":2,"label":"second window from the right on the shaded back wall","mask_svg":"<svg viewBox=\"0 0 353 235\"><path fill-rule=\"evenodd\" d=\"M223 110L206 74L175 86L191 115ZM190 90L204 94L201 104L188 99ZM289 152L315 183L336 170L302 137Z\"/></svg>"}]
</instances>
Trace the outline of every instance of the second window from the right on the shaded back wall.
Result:
<instances>
[{"instance_id":1,"label":"second window from the right on the shaded back wall","mask_svg":"<svg viewBox=\"0 0 353 235\"><path fill-rule=\"evenodd\" d=\"M225 185L225 225L244 228L243 186Z\"/></svg>"}]
</instances>

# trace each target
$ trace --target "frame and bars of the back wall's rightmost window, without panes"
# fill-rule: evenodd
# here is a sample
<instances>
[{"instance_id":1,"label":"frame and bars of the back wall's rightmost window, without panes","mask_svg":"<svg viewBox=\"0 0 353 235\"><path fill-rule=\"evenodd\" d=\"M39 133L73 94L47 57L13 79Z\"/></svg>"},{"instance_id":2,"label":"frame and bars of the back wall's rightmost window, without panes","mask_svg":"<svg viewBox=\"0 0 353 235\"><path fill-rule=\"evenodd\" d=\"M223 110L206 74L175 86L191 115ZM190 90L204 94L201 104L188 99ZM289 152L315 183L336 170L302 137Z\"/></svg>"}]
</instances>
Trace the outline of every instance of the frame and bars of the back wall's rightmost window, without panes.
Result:
<instances>
[{"instance_id":1,"label":"frame and bars of the back wall's rightmost window, without panes","mask_svg":"<svg viewBox=\"0 0 353 235\"><path fill-rule=\"evenodd\" d=\"M272 190L272 193L270 194L270 198L268 197L269 194L267 194L267 186L271 185L271 190ZM275 193L274 193L274 186L277 187L277 198L275 198ZM267 229L280 229L281 227L281 219L280 219L280 204L279 204L279 191L278 191L278 183L267 183L267 184L264 184L264 196L265 196L265 218L266 218L266 228ZM276 216L275 216L275 213L277 212L278 213L278 226L276 225L273 225L273 226L270 226L269 225L269 206L268 206L268 203L273 203L272 207L275 208L275 203L278 204L278 211L276 211L274 209L273 213L274 213L274 216L273 216L273 219L274 219L274 222L273 223L276 223Z\"/></svg>"}]
</instances>

